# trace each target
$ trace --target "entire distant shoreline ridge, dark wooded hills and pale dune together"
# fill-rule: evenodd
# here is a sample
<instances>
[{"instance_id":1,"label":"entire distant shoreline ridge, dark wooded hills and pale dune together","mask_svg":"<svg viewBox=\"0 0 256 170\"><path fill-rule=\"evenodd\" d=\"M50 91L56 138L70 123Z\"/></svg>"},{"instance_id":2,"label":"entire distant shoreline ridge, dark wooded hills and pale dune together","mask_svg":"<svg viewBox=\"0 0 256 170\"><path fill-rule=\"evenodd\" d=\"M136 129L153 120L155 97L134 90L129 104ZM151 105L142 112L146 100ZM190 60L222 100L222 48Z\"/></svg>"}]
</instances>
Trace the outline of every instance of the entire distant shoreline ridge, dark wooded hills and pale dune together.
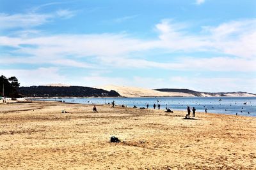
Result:
<instances>
[{"instance_id":1,"label":"entire distant shoreline ridge, dark wooded hills and pale dune together","mask_svg":"<svg viewBox=\"0 0 256 170\"><path fill-rule=\"evenodd\" d=\"M61 84L20 87L24 97L256 97L247 92L197 92L189 89L145 89L107 85L104 87L81 87ZM105 95L106 94L106 95Z\"/></svg>"}]
</instances>

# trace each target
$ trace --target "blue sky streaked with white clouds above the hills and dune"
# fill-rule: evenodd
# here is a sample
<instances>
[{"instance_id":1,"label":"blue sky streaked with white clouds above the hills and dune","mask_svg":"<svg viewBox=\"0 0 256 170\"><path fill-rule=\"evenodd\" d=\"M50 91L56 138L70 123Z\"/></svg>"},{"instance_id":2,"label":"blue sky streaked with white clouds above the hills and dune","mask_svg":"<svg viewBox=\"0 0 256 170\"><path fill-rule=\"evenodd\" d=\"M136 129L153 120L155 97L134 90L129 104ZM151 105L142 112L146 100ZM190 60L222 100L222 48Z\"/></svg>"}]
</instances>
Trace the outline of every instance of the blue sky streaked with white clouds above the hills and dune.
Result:
<instances>
[{"instance_id":1,"label":"blue sky streaked with white clouds above the hills and dune","mask_svg":"<svg viewBox=\"0 0 256 170\"><path fill-rule=\"evenodd\" d=\"M256 1L0 0L0 74L256 93Z\"/></svg>"}]
</instances>

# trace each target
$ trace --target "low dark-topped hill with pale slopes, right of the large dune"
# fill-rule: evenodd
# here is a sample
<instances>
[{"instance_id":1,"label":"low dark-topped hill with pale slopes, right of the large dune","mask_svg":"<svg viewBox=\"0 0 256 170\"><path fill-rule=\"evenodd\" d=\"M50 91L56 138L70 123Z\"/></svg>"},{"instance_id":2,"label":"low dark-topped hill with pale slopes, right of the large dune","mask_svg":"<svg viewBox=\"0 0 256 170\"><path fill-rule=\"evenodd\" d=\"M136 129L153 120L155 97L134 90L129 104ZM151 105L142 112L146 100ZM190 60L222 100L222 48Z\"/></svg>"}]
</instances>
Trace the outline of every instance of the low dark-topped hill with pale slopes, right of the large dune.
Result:
<instances>
[{"instance_id":1,"label":"low dark-topped hill with pale slopes, right of the large dune","mask_svg":"<svg viewBox=\"0 0 256 170\"><path fill-rule=\"evenodd\" d=\"M155 89L159 92L180 92L191 94L197 97L256 97L256 94L247 93L247 92L196 92L189 89Z\"/></svg>"}]
</instances>

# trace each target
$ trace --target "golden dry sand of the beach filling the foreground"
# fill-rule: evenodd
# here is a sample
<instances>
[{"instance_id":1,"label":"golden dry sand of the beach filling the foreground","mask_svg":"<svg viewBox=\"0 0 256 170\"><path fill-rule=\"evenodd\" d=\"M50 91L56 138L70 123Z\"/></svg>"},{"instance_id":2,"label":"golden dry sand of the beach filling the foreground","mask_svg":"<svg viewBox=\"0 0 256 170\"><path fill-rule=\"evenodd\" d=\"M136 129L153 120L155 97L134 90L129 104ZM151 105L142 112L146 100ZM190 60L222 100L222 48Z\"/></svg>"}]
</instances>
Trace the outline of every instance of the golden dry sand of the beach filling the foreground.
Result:
<instances>
[{"instance_id":1,"label":"golden dry sand of the beach filling the foreground","mask_svg":"<svg viewBox=\"0 0 256 170\"><path fill-rule=\"evenodd\" d=\"M0 169L256 169L256 118L92 108L0 104Z\"/></svg>"}]
</instances>

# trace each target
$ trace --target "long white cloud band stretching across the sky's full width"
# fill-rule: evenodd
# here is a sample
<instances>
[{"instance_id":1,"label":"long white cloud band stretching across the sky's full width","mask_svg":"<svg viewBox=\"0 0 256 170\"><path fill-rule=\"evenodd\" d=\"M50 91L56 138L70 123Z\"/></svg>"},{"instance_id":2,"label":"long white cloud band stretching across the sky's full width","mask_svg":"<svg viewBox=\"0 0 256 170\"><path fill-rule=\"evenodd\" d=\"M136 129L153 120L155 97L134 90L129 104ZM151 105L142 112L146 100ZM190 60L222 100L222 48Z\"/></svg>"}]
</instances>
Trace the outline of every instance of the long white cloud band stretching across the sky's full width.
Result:
<instances>
[{"instance_id":1,"label":"long white cloud band stretching across the sky's full width","mask_svg":"<svg viewBox=\"0 0 256 170\"><path fill-rule=\"evenodd\" d=\"M255 71L256 20L239 20L203 27L202 32L191 34L187 25L162 20L156 25L159 38L143 40L127 34L59 34L55 36L15 37L0 36L0 45L12 46L18 56L16 63L59 64L61 66L93 67L78 59L93 59L98 66L162 68L173 70ZM148 50L171 52L220 52L223 57L180 57L175 62L158 62L137 57L134 52ZM236 57L225 57L232 54ZM72 59L69 59L70 56ZM3 59L4 57L2 57ZM172 59L170 59L172 60ZM8 59L2 62L8 62ZM10 63L10 62L9 62Z\"/></svg>"}]
</instances>

